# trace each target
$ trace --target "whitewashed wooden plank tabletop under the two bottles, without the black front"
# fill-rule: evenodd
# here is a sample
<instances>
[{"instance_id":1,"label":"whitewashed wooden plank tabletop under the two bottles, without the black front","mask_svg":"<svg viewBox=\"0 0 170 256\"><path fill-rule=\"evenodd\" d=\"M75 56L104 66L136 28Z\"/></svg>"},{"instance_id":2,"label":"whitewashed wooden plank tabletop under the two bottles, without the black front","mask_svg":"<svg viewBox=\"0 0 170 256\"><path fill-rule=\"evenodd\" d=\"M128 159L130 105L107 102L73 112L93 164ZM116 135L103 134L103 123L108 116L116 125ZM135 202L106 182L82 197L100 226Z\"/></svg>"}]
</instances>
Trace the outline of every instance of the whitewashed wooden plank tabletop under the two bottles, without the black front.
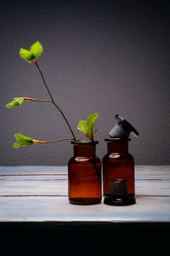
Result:
<instances>
[{"instance_id":1,"label":"whitewashed wooden plank tabletop under the two bottles, without the black front","mask_svg":"<svg viewBox=\"0 0 170 256\"><path fill-rule=\"evenodd\" d=\"M136 204L68 202L67 166L1 166L0 224L170 224L170 166L135 166Z\"/></svg>"}]
</instances>

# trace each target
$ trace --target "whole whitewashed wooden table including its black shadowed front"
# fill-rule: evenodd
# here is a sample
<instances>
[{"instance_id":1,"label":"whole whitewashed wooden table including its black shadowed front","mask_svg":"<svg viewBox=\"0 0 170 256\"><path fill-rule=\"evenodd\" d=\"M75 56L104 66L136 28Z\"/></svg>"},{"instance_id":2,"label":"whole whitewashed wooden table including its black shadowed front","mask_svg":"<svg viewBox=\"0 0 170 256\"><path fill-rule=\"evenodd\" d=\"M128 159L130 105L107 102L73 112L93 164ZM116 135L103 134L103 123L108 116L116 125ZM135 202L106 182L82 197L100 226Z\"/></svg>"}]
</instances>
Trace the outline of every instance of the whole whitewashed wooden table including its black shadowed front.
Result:
<instances>
[{"instance_id":1,"label":"whole whitewashed wooden table including its black shadowed front","mask_svg":"<svg viewBox=\"0 0 170 256\"><path fill-rule=\"evenodd\" d=\"M76 206L68 202L66 166L1 166L1 251L168 255L170 166L135 166L135 178L136 205Z\"/></svg>"}]
</instances>

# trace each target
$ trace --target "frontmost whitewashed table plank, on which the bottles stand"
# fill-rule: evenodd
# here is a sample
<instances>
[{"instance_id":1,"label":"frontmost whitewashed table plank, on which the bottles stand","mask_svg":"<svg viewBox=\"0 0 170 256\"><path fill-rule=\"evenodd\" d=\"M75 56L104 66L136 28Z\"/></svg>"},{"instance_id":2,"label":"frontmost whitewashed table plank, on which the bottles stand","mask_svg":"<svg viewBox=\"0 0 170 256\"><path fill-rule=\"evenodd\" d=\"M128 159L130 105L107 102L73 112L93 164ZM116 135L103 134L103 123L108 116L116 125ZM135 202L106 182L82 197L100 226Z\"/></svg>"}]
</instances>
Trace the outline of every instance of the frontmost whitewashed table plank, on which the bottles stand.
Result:
<instances>
[{"instance_id":1,"label":"frontmost whitewashed table plank, on which the bottles stand","mask_svg":"<svg viewBox=\"0 0 170 256\"><path fill-rule=\"evenodd\" d=\"M67 197L1 197L0 206L0 222L170 222L170 198L166 197L137 197L137 204L128 207L76 206Z\"/></svg>"}]
</instances>

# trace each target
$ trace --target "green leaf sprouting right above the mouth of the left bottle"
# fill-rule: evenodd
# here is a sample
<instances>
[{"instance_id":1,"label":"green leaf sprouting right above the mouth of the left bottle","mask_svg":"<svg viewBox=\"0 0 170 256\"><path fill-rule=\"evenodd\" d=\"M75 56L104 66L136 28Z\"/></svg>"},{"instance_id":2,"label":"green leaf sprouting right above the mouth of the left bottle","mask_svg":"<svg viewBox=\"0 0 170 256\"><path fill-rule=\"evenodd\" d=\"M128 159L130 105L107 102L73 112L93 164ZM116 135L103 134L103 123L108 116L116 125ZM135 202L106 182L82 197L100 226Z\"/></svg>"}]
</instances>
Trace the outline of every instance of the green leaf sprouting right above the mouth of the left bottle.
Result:
<instances>
[{"instance_id":1,"label":"green leaf sprouting right above the mouth of the left bottle","mask_svg":"<svg viewBox=\"0 0 170 256\"><path fill-rule=\"evenodd\" d=\"M99 113L93 113L88 116L86 121L80 120L77 129L86 135L90 140L94 140L94 123L99 117Z\"/></svg>"}]
</instances>

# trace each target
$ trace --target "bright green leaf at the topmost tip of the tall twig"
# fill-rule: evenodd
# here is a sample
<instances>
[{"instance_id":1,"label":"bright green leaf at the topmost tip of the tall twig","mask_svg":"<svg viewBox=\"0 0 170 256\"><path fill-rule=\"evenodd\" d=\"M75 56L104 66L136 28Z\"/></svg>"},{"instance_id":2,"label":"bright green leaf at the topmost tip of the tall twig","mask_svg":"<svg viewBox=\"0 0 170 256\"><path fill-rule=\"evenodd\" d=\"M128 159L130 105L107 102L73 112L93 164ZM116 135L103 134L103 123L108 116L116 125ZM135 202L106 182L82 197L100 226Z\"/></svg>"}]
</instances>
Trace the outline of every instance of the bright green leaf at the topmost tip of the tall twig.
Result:
<instances>
[{"instance_id":1,"label":"bright green leaf at the topmost tip of the tall twig","mask_svg":"<svg viewBox=\"0 0 170 256\"><path fill-rule=\"evenodd\" d=\"M20 49L20 56L23 58L25 61L31 62L35 61L38 56L42 54L42 44L40 44L39 41L37 43L32 44L31 49Z\"/></svg>"}]
</instances>

